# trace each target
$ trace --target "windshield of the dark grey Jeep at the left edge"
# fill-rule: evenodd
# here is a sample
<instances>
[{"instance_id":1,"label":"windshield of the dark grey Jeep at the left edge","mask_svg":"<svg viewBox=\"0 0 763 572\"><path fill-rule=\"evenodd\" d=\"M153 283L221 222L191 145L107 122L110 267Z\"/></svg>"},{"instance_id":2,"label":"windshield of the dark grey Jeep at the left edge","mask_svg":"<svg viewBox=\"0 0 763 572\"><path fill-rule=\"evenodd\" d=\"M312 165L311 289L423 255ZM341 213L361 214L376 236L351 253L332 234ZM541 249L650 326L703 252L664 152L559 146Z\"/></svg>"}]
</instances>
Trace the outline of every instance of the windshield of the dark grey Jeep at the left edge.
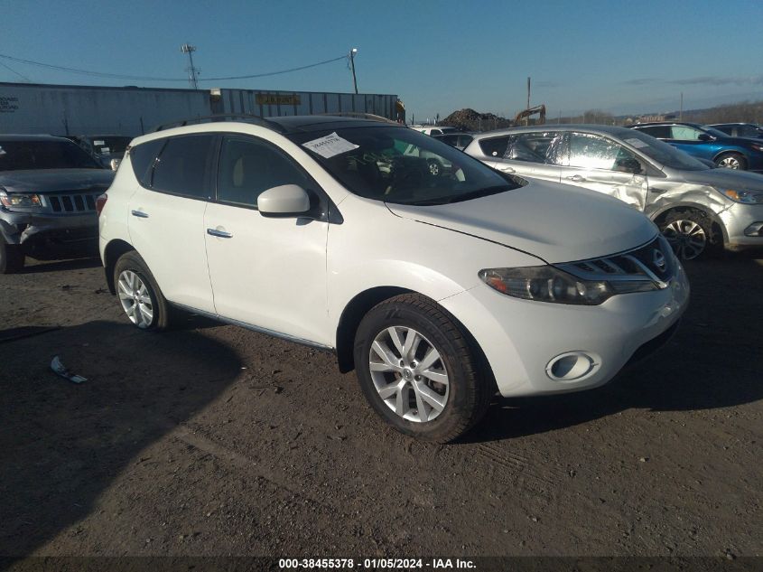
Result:
<instances>
[{"instance_id":1,"label":"windshield of the dark grey Jeep at the left edge","mask_svg":"<svg viewBox=\"0 0 763 572\"><path fill-rule=\"evenodd\" d=\"M102 168L70 141L0 139L0 171Z\"/></svg>"}]
</instances>

